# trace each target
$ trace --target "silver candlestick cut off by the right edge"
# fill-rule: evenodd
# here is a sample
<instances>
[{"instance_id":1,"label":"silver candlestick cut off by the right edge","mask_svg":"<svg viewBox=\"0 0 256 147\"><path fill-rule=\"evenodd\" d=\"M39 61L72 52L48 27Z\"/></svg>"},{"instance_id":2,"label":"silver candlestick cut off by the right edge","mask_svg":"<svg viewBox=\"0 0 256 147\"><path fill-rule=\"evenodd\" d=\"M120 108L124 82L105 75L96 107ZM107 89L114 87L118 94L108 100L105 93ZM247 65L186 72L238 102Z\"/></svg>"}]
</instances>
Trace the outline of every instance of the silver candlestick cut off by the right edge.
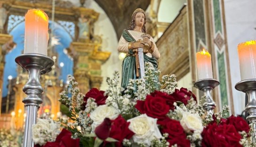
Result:
<instances>
[{"instance_id":1,"label":"silver candlestick cut off by the right edge","mask_svg":"<svg viewBox=\"0 0 256 147\"><path fill-rule=\"evenodd\" d=\"M235 88L248 95L248 103L245 111L248 112L246 120L252 124L252 139L256 142L256 79L248 79L238 82Z\"/></svg>"}]
</instances>

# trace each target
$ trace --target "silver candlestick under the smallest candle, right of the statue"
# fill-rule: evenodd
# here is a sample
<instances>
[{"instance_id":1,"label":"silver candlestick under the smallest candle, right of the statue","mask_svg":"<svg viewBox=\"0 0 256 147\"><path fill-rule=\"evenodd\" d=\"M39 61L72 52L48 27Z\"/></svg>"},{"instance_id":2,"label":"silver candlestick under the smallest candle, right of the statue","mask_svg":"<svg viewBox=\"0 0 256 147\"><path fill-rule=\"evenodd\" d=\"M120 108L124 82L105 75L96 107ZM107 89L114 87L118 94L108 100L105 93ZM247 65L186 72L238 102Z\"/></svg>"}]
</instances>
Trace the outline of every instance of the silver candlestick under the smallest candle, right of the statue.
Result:
<instances>
[{"instance_id":1,"label":"silver candlestick under the smallest candle, right of the statue","mask_svg":"<svg viewBox=\"0 0 256 147\"><path fill-rule=\"evenodd\" d=\"M216 107L216 103L212 98L212 90L220 84L215 79L202 79L194 83L194 87L204 92L206 101L203 103L203 108L206 110L207 115L213 115L213 110Z\"/></svg>"}]
</instances>

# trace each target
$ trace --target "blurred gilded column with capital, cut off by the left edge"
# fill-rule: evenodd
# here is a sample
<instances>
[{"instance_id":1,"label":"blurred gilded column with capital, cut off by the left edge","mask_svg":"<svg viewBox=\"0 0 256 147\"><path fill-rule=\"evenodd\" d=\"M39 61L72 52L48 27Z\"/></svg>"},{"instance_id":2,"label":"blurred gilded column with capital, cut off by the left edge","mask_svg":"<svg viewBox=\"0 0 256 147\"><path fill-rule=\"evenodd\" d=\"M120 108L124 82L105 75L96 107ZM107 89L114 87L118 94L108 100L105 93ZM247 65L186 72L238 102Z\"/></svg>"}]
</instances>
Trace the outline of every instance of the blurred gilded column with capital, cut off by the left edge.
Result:
<instances>
[{"instance_id":1,"label":"blurred gilded column with capital, cut off by the left edge","mask_svg":"<svg viewBox=\"0 0 256 147\"><path fill-rule=\"evenodd\" d=\"M6 45L12 42L12 36L8 34L0 34L0 115L2 106L2 86L3 86L3 71L4 71L4 56L8 52Z\"/></svg>"}]
</instances>

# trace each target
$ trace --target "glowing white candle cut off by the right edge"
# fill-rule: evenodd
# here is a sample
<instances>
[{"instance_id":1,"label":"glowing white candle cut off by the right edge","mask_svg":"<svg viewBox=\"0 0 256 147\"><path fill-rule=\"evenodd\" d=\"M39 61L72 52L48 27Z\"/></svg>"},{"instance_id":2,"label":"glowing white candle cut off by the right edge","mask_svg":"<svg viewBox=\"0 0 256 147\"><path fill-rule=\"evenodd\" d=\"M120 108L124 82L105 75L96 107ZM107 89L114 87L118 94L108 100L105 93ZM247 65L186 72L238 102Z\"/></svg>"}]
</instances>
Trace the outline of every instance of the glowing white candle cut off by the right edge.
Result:
<instances>
[{"instance_id":1,"label":"glowing white candle cut off by the right edge","mask_svg":"<svg viewBox=\"0 0 256 147\"><path fill-rule=\"evenodd\" d=\"M256 79L256 40L238 44L241 80Z\"/></svg>"}]
</instances>

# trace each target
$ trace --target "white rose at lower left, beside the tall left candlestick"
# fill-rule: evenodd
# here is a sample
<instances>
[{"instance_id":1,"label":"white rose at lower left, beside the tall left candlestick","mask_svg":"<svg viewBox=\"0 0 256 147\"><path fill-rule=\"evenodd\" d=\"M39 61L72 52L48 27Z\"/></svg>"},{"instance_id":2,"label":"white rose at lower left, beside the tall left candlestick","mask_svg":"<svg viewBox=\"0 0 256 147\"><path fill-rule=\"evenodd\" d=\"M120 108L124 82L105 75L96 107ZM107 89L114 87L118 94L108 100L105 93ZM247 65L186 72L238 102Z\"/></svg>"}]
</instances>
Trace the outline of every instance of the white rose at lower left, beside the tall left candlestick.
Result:
<instances>
[{"instance_id":1,"label":"white rose at lower left, beside the tall left candlestick","mask_svg":"<svg viewBox=\"0 0 256 147\"><path fill-rule=\"evenodd\" d=\"M47 141L55 141L59 133L60 125L50 119L37 118L37 124L32 126L32 139L40 146L45 145Z\"/></svg>"}]
</instances>

